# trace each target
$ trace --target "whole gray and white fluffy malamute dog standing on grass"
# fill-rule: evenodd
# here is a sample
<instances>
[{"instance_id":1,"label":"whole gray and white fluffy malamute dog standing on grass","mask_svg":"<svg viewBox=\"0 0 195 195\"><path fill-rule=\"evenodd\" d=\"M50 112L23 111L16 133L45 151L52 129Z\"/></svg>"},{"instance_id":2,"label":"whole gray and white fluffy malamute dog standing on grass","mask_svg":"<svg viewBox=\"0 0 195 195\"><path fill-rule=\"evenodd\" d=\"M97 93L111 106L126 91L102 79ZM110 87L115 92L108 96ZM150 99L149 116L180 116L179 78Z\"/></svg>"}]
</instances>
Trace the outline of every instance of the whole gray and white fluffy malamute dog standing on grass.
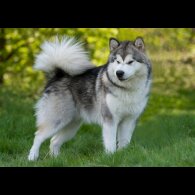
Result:
<instances>
[{"instance_id":1,"label":"whole gray and white fluffy malamute dog standing on grass","mask_svg":"<svg viewBox=\"0 0 195 195\"><path fill-rule=\"evenodd\" d=\"M96 67L82 43L70 37L45 42L35 68L46 73L47 84L36 104L37 131L28 160L37 160L41 144L50 140L57 156L82 122L102 126L105 152L126 147L150 92L151 62L143 38L110 38L105 65Z\"/></svg>"}]
</instances>

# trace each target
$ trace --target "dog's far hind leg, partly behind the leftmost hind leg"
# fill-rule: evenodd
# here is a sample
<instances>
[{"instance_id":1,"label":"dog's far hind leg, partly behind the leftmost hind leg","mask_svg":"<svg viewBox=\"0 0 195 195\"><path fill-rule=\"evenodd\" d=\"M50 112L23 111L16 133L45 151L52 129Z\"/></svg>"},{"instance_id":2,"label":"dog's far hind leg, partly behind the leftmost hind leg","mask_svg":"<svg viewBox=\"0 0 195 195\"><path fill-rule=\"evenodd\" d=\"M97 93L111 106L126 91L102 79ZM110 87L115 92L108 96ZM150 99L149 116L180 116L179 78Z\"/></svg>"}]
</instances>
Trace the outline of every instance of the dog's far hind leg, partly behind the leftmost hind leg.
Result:
<instances>
[{"instance_id":1,"label":"dog's far hind leg, partly behind the leftmost hind leg","mask_svg":"<svg viewBox=\"0 0 195 195\"><path fill-rule=\"evenodd\" d=\"M58 156L63 143L72 139L79 130L81 120L73 120L64 129L57 132L50 141L50 154Z\"/></svg>"}]
</instances>

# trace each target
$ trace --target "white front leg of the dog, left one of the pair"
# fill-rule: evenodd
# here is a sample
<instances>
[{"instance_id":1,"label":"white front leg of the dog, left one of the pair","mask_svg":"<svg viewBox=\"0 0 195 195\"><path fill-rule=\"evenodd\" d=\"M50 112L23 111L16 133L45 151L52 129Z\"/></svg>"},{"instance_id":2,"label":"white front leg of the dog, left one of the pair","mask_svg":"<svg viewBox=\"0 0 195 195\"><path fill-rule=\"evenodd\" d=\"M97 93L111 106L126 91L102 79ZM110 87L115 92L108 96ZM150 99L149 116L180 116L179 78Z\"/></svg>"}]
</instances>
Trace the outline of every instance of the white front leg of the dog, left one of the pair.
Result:
<instances>
[{"instance_id":1,"label":"white front leg of the dog, left one of the pair","mask_svg":"<svg viewBox=\"0 0 195 195\"><path fill-rule=\"evenodd\" d=\"M105 121L103 123L103 140L106 153L116 151L117 123Z\"/></svg>"}]
</instances>

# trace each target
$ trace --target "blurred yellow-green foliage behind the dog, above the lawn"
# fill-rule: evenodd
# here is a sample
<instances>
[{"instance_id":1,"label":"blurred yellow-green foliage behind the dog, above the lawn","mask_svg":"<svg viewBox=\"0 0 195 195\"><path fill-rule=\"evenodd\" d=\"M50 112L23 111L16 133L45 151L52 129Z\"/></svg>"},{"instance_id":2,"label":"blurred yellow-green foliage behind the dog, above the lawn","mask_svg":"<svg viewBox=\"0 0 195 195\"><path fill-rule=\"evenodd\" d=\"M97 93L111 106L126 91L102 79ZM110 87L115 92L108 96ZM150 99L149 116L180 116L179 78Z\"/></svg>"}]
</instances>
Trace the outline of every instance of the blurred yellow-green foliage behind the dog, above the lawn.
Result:
<instances>
[{"instance_id":1,"label":"blurred yellow-green foliage behind the dog, above the lawn","mask_svg":"<svg viewBox=\"0 0 195 195\"><path fill-rule=\"evenodd\" d=\"M153 63L154 83L162 85L167 91L172 85L195 86L195 32L191 28L0 29L0 83L32 94L37 92L44 76L33 69L34 59L40 45L56 35L76 36L86 43L84 47L89 50L96 65L106 63L110 37L133 40L142 36Z\"/></svg>"}]
</instances>

